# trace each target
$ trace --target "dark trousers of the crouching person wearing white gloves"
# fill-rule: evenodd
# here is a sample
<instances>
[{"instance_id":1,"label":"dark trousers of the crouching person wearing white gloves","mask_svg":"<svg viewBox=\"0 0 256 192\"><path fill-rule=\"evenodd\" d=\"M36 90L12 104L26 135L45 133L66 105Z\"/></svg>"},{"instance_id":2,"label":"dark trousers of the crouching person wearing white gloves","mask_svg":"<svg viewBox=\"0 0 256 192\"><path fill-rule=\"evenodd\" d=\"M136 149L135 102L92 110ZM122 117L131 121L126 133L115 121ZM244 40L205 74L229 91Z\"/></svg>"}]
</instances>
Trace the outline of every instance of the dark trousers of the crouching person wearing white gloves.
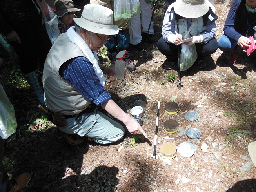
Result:
<instances>
[{"instance_id":1,"label":"dark trousers of the crouching person wearing white gloves","mask_svg":"<svg viewBox=\"0 0 256 192\"><path fill-rule=\"evenodd\" d=\"M180 50L181 50L181 45ZM166 43L161 37L157 42L157 48L163 55L166 56L168 61L176 61L178 58L178 45L172 43ZM198 60L215 53L218 48L218 43L215 38L212 38L206 44L196 43L196 52L198 54Z\"/></svg>"}]
</instances>

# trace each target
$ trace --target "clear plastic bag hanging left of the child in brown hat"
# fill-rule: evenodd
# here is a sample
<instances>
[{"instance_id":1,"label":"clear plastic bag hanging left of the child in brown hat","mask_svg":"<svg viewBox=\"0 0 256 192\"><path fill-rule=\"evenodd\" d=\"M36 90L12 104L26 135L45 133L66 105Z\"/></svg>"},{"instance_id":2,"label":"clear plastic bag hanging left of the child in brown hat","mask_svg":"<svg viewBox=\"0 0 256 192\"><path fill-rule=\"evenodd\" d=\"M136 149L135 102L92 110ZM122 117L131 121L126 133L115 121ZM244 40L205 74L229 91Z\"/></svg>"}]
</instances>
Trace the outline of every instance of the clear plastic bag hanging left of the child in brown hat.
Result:
<instances>
[{"instance_id":1,"label":"clear plastic bag hanging left of the child in brown hat","mask_svg":"<svg viewBox=\"0 0 256 192\"><path fill-rule=\"evenodd\" d=\"M45 2L45 0L36 0L36 2L42 11L45 27L51 43L53 44L58 36L60 36L57 15L53 12L51 7Z\"/></svg>"}]
</instances>

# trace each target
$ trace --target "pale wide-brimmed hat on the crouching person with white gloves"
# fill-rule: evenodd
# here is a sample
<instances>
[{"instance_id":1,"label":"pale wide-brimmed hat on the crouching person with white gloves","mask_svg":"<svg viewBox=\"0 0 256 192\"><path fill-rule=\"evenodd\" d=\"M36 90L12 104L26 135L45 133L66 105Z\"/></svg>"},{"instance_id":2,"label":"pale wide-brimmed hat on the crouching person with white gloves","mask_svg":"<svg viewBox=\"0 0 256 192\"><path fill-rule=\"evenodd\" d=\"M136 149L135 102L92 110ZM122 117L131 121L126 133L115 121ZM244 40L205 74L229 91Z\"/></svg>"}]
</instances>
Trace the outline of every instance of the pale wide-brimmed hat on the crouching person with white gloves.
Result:
<instances>
[{"instance_id":1,"label":"pale wide-brimmed hat on the crouching person with white gloves","mask_svg":"<svg viewBox=\"0 0 256 192\"><path fill-rule=\"evenodd\" d=\"M176 0L173 3L175 13L185 18L198 18L209 10L208 0Z\"/></svg>"}]
</instances>

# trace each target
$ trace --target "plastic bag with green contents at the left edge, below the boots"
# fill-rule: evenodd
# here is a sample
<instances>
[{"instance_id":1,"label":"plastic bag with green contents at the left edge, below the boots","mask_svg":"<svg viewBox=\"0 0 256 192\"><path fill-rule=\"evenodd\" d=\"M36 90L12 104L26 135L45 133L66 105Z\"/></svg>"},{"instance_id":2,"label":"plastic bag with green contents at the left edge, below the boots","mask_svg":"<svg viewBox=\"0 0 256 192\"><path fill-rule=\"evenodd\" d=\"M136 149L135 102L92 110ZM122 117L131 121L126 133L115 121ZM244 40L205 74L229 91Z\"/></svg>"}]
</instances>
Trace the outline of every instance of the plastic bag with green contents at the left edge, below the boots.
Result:
<instances>
[{"instance_id":1,"label":"plastic bag with green contents at the left edge, below the boots","mask_svg":"<svg viewBox=\"0 0 256 192\"><path fill-rule=\"evenodd\" d=\"M17 121L14 116L14 108L9 101L2 85L0 84L0 136L7 139L16 132Z\"/></svg>"}]
</instances>

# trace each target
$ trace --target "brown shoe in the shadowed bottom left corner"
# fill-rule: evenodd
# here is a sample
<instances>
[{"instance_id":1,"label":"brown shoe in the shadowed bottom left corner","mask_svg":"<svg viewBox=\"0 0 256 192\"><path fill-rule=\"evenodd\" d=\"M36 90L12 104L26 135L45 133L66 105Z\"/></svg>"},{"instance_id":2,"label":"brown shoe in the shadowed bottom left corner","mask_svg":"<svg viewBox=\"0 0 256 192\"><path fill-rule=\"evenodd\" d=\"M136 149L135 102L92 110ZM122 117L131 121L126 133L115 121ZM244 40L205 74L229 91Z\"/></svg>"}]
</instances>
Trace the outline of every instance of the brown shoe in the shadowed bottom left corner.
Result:
<instances>
[{"instance_id":1,"label":"brown shoe in the shadowed bottom left corner","mask_svg":"<svg viewBox=\"0 0 256 192\"><path fill-rule=\"evenodd\" d=\"M22 173L10 180L10 192L22 190L30 181L30 173Z\"/></svg>"}]
</instances>

